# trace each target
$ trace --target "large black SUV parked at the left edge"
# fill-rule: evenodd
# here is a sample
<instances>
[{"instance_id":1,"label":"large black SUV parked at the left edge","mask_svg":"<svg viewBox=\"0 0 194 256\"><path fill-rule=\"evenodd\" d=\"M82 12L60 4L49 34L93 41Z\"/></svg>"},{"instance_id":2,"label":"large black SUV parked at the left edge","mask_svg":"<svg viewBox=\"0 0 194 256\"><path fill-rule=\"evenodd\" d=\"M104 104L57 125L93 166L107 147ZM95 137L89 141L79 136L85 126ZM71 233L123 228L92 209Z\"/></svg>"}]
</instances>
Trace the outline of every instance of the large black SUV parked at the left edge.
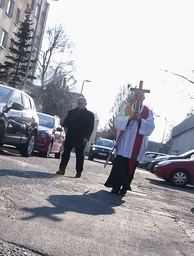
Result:
<instances>
[{"instance_id":1,"label":"large black SUV parked at the left edge","mask_svg":"<svg viewBox=\"0 0 194 256\"><path fill-rule=\"evenodd\" d=\"M30 157L38 136L38 120L28 94L0 84L0 146L15 146L22 157Z\"/></svg>"}]
</instances>

